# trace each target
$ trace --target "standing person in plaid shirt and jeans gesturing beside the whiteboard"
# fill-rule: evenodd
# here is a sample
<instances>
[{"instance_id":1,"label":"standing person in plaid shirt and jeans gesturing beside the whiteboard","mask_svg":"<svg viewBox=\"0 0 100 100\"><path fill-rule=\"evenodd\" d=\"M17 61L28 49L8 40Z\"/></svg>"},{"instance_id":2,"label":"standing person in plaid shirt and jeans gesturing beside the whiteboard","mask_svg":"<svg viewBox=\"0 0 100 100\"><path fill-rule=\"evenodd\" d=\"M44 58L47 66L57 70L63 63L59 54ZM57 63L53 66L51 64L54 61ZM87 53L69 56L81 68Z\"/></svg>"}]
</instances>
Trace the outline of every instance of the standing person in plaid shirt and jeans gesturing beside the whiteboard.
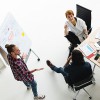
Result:
<instances>
[{"instance_id":1,"label":"standing person in plaid shirt and jeans gesturing beside the whiteboard","mask_svg":"<svg viewBox=\"0 0 100 100\"><path fill-rule=\"evenodd\" d=\"M17 81L22 81L27 87L31 86L32 92L34 95L34 100L44 99L45 95L42 95L42 96L38 95L37 82L35 81L34 75L32 74L35 71L43 70L43 68L33 69L30 71L27 65L25 64L24 60L19 57L20 50L16 45L6 44L5 48L8 51L7 58L8 58L12 73L14 75L14 78Z\"/></svg>"}]
</instances>

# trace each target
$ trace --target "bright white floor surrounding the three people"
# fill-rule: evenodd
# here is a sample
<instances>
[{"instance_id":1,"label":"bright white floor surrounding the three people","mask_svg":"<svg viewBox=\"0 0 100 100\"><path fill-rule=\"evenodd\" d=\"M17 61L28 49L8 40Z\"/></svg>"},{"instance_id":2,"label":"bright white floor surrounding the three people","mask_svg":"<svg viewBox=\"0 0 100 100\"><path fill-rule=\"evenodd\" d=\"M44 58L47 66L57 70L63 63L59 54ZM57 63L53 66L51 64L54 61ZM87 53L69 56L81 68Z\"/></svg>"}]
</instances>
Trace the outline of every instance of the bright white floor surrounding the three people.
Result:
<instances>
[{"instance_id":1,"label":"bright white floor surrounding the three people","mask_svg":"<svg viewBox=\"0 0 100 100\"><path fill-rule=\"evenodd\" d=\"M32 49L40 57L40 61L38 62L37 57L31 53L27 62L28 68L30 70L40 67L44 68L43 71L34 73L35 80L38 83L38 93L45 94L45 100L72 100L74 93L68 89L63 76L51 71L45 62L47 59L50 59L56 66L63 66L65 64L69 52L69 42L63 36L63 25L65 22L64 13L67 9L75 10L76 3L74 0L73 2L66 0L50 0L48 2L46 0L37 0L37 2L33 2L32 4L32 1L33 0L25 2L25 0L23 0L26 4L23 4L23 8L21 8L22 2L19 0L19 7L21 8L19 9L17 2L13 2L12 0L11 2L14 5L10 7L15 7L15 9L10 10L13 12L19 24L23 27L23 30L28 33L29 38L32 40ZM27 5L27 3L29 3L29 5ZM92 5L93 4L94 2L92 2ZM88 5L88 8L92 9L92 5ZM83 3L83 6L87 6L86 3ZM98 3L97 6L99 7ZM32 7L34 9L32 9ZM93 6L93 8L95 8L93 9L93 13L95 13L96 7ZM23 10L27 13L23 12ZM5 13L3 13L2 19L4 15ZM99 21L97 21L96 17L99 19L99 16L95 15L95 18L93 16L93 18L96 19L93 19L92 23L94 28L99 25ZM87 87L93 100L100 100L99 76L100 68L96 67L94 74L96 85ZM8 65L0 72L0 100L33 100L32 91L27 91L22 82L17 82L14 79ZM87 94L81 91L78 100L88 100Z\"/></svg>"}]
</instances>

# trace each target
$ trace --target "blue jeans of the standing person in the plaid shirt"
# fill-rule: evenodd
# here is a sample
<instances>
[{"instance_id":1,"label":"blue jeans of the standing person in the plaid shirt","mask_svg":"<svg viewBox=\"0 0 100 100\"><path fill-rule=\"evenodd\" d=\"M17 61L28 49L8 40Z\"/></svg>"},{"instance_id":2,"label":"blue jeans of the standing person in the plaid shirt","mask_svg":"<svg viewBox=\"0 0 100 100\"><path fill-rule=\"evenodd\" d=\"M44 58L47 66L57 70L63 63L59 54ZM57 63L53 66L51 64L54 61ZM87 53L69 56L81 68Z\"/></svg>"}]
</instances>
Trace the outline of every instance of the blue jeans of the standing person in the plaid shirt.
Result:
<instances>
[{"instance_id":1,"label":"blue jeans of the standing person in the plaid shirt","mask_svg":"<svg viewBox=\"0 0 100 100\"><path fill-rule=\"evenodd\" d=\"M32 87L32 92L34 96L38 96L37 93L37 83L36 81L33 79L31 82L23 82L27 87L31 86Z\"/></svg>"}]
</instances>

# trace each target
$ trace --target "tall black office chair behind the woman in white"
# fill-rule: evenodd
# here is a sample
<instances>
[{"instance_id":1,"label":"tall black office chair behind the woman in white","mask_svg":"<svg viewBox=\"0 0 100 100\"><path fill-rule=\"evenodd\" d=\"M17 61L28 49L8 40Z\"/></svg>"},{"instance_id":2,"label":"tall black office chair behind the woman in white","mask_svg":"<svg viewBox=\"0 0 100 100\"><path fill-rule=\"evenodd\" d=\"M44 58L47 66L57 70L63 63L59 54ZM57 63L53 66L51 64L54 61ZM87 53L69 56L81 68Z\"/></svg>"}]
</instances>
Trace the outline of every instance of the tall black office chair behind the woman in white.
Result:
<instances>
[{"instance_id":1,"label":"tall black office chair behind the woman in white","mask_svg":"<svg viewBox=\"0 0 100 100\"><path fill-rule=\"evenodd\" d=\"M76 4L76 17L83 19L86 22L88 34L91 33L91 10Z\"/></svg>"}]
</instances>

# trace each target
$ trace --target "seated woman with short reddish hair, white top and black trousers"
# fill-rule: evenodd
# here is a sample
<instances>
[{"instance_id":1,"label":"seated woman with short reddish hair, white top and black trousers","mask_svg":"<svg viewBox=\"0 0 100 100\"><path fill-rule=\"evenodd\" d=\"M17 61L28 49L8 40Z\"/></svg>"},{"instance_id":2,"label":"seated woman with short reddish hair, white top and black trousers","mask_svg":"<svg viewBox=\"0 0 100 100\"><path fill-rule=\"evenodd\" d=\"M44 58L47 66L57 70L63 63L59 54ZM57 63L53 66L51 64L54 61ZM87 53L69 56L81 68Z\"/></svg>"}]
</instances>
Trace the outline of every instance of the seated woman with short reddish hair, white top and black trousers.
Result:
<instances>
[{"instance_id":1,"label":"seated woman with short reddish hair, white top and black trousers","mask_svg":"<svg viewBox=\"0 0 100 100\"><path fill-rule=\"evenodd\" d=\"M72 10L67 10L65 13L67 21L64 25L64 36L70 41L70 53L77 44L80 44L85 38L88 37L87 26L85 21L80 18L74 17Z\"/></svg>"}]
</instances>

